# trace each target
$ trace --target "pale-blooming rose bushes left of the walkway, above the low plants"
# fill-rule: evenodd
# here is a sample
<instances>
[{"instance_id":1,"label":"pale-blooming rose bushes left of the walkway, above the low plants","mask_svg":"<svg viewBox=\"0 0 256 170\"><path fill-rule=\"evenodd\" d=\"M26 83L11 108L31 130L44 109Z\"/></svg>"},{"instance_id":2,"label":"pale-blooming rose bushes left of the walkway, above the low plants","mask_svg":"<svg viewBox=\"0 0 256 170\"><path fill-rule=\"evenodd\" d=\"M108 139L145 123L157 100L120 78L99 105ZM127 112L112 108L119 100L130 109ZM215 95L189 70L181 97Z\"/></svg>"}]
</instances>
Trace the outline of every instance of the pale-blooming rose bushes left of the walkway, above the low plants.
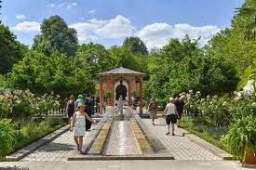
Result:
<instances>
[{"instance_id":1,"label":"pale-blooming rose bushes left of the walkway, above the low plants","mask_svg":"<svg viewBox=\"0 0 256 170\"><path fill-rule=\"evenodd\" d=\"M12 119L14 122L29 120L35 114L47 113L60 107L60 96L44 95L35 97L30 90L14 90L0 94L0 118Z\"/></svg>"}]
</instances>

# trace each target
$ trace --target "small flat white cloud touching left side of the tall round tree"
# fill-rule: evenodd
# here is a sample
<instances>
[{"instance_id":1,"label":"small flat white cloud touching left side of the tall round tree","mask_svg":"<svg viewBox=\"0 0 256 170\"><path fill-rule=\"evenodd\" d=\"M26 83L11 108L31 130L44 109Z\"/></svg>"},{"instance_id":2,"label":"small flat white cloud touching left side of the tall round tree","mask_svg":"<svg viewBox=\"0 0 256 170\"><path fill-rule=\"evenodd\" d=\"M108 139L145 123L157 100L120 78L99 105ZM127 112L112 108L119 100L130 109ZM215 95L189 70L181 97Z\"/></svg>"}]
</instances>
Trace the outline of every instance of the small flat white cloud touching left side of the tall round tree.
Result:
<instances>
[{"instance_id":1,"label":"small flat white cloud touching left side of the tall round tree","mask_svg":"<svg viewBox=\"0 0 256 170\"><path fill-rule=\"evenodd\" d=\"M17 32L39 32L40 31L40 23L36 21L23 21L12 27L14 31Z\"/></svg>"}]
</instances>

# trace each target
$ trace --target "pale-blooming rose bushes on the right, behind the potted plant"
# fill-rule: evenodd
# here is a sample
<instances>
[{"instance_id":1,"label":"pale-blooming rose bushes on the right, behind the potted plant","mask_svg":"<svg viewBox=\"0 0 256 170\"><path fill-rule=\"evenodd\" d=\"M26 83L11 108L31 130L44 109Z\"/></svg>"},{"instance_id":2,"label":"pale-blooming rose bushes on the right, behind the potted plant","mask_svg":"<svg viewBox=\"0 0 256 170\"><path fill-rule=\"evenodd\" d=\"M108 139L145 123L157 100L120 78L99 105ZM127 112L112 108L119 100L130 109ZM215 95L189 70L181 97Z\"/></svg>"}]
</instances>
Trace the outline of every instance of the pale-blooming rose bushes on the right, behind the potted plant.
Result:
<instances>
[{"instance_id":1,"label":"pale-blooming rose bushes on the right, behind the potted plant","mask_svg":"<svg viewBox=\"0 0 256 170\"><path fill-rule=\"evenodd\" d=\"M195 116L202 115L200 121L209 126L228 127L242 117L256 116L255 94L243 96L237 93L202 98L200 92L189 91L182 95L187 98L186 110Z\"/></svg>"}]
</instances>

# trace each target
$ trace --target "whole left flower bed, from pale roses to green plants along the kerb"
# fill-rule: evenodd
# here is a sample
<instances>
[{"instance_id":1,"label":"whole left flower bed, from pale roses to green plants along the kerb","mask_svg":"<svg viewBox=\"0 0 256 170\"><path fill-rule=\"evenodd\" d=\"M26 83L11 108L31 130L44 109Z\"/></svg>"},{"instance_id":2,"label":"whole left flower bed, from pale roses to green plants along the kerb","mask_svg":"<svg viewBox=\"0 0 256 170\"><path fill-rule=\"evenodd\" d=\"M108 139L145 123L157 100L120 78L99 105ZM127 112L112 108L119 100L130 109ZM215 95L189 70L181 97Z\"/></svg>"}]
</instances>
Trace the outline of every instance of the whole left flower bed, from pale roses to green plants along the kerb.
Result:
<instances>
[{"instance_id":1,"label":"whole left flower bed, from pale roses to green plants along the kerb","mask_svg":"<svg viewBox=\"0 0 256 170\"><path fill-rule=\"evenodd\" d=\"M0 92L0 159L67 124L47 116L60 108L59 99L53 93L36 97L30 90Z\"/></svg>"}]
</instances>

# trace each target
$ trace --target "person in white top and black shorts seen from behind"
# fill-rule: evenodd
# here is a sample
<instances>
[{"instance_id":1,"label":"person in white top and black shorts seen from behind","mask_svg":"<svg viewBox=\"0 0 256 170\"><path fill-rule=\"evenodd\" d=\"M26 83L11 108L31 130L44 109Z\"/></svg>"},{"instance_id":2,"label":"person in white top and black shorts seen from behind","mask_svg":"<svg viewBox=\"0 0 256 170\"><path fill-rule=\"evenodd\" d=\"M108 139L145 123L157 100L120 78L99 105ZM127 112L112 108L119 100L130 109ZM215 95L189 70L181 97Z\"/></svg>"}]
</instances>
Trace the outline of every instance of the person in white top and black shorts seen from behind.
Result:
<instances>
[{"instance_id":1,"label":"person in white top and black shorts seen from behind","mask_svg":"<svg viewBox=\"0 0 256 170\"><path fill-rule=\"evenodd\" d=\"M169 98L169 103L167 104L167 107L164 111L164 114L167 114L167 118L166 118L166 122L168 124L168 133L167 135L169 135L169 124L171 124L171 135L175 136L174 134L174 124L177 123L177 118L178 118L178 111L177 108L175 106L175 104L173 104L172 102L174 101L174 98Z\"/></svg>"}]
</instances>

